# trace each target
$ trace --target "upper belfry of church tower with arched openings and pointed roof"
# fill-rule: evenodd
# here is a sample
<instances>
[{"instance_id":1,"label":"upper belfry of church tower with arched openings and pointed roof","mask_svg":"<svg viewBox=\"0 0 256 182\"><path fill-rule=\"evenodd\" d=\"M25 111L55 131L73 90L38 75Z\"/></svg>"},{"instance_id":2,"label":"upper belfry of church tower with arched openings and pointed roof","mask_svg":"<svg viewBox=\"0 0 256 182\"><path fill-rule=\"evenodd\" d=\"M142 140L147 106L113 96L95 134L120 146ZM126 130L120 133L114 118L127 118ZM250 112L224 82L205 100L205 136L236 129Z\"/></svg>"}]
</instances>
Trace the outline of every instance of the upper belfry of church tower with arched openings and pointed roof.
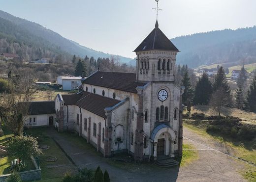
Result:
<instances>
[{"instance_id":1,"label":"upper belfry of church tower with arched openings and pointed roof","mask_svg":"<svg viewBox=\"0 0 256 182\"><path fill-rule=\"evenodd\" d=\"M174 81L176 55L179 50L160 30L158 20L155 28L134 52L137 56L137 81Z\"/></svg>"}]
</instances>

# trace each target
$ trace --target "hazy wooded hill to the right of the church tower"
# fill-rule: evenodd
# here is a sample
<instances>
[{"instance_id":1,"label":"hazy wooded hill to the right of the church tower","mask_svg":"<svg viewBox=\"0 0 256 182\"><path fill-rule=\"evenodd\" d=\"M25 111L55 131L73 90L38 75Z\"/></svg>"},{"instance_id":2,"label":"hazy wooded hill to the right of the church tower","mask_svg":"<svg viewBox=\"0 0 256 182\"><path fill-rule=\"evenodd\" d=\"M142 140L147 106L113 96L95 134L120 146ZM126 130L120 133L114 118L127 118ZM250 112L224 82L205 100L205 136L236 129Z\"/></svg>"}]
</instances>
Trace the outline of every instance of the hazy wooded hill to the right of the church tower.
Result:
<instances>
[{"instance_id":1,"label":"hazy wooded hill to the right of the church tower","mask_svg":"<svg viewBox=\"0 0 256 182\"><path fill-rule=\"evenodd\" d=\"M181 51L177 64L196 68L229 63L227 67L256 62L256 26L196 33L171 39Z\"/></svg>"}]
</instances>

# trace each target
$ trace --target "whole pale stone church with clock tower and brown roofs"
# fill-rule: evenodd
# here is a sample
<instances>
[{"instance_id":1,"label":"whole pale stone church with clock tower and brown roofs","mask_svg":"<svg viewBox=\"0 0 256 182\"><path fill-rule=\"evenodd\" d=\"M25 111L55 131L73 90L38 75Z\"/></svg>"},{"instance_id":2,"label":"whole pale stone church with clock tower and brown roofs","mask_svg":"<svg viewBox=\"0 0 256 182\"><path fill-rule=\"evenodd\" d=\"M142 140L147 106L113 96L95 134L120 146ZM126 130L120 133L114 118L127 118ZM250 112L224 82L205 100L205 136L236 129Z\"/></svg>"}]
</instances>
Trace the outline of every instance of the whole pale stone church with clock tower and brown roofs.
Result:
<instances>
[{"instance_id":1,"label":"whole pale stone church with clock tower and brown roofs","mask_svg":"<svg viewBox=\"0 0 256 182\"><path fill-rule=\"evenodd\" d=\"M174 82L179 50L157 21L134 52L136 73L98 70L82 82L83 91L58 94L55 127L75 130L104 157L182 156L184 86Z\"/></svg>"}]
</instances>

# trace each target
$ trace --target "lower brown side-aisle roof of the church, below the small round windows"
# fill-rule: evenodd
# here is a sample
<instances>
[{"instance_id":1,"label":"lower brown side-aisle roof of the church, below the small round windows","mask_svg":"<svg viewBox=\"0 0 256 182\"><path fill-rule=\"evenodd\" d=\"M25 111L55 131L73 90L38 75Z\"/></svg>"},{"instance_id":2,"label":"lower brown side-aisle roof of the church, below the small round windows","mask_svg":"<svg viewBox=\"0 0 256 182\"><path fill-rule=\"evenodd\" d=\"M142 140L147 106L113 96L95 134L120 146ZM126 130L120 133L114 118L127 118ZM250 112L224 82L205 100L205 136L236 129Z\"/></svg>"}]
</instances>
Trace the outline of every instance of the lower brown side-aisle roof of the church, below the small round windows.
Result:
<instances>
[{"instance_id":1,"label":"lower brown side-aisle roof of the church, below the small round windows","mask_svg":"<svg viewBox=\"0 0 256 182\"><path fill-rule=\"evenodd\" d=\"M103 97L85 91L76 95L62 95L62 97L65 105L77 105L102 118L106 118L104 110L106 107L112 107L120 103L119 100Z\"/></svg>"}]
</instances>

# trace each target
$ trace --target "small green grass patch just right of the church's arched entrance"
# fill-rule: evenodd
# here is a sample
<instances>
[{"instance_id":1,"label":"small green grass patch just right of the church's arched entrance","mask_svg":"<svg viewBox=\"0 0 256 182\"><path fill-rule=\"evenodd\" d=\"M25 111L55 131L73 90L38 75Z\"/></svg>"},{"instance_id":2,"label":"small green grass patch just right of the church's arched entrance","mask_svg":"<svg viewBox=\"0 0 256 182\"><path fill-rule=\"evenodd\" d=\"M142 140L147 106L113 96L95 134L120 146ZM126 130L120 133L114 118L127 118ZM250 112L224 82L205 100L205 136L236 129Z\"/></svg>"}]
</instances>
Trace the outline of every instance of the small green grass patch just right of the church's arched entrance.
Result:
<instances>
[{"instance_id":1,"label":"small green grass patch just right of the church's arched entrance","mask_svg":"<svg viewBox=\"0 0 256 182\"><path fill-rule=\"evenodd\" d=\"M195 148L192 145L183 144L183 153L182 153L180 166L183 166L183 167L187 166L191 164L193 161L198 159L198 152L193 151L193 149Z\"/></svg>"}]
</instances>

